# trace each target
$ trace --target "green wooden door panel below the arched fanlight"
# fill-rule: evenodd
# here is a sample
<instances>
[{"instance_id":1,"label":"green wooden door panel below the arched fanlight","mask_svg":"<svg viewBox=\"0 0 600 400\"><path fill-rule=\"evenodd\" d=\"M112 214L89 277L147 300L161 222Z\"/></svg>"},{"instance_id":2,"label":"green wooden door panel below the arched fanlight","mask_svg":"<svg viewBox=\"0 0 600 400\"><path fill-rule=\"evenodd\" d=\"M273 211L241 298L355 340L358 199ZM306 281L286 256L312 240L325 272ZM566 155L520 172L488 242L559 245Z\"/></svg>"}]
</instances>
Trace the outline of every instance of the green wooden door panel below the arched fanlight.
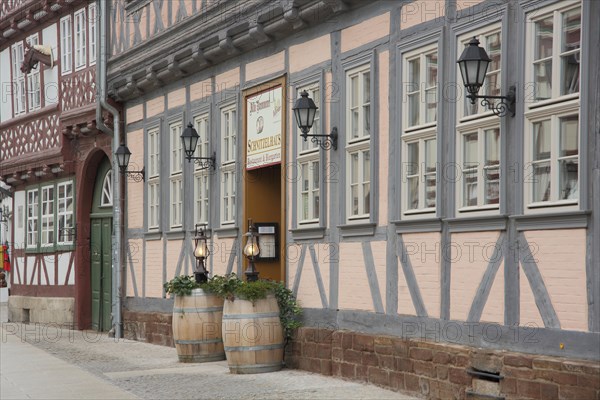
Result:
<instances>
[{"instance_id":1,"label":"green wooden door panel below the arched fanlight","mask_svg":"<svg viewBox=\"0 0 600 400\"><path fill-rule=\"evenodd\" d=\"M112 326L112 218L91 221L92 329L108 331Z\"/></svg>"}]
</instances>

